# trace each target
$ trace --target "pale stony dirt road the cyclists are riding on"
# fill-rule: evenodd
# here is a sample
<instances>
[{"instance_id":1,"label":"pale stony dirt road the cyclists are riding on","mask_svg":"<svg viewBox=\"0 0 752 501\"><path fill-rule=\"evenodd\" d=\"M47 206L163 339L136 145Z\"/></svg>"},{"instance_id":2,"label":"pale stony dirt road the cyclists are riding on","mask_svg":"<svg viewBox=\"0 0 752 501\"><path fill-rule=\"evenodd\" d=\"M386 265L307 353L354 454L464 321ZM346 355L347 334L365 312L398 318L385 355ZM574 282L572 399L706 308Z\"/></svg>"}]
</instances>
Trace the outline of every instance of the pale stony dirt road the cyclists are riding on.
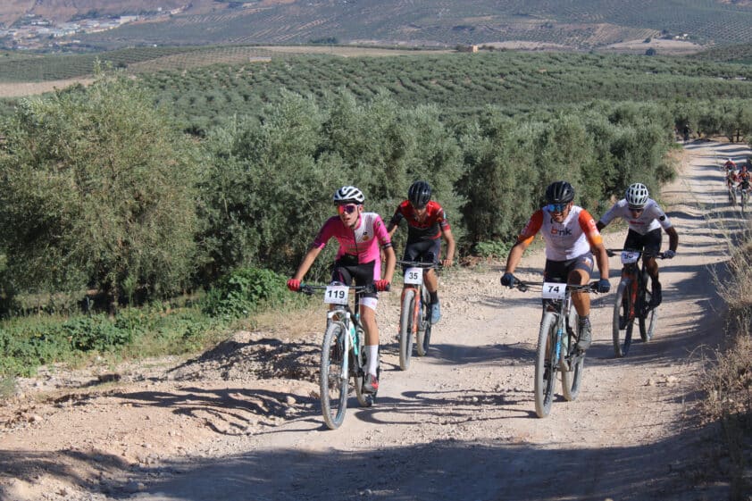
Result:
<instances>
[{"instance_id":1,"label":"pale stony dirt road the cyclists are riding on","mask_svg":"<svg viewBox=\"0 0 752 501\"><path fill-rule=\"evenodd\" d=\"M726 229L741 221L725 205L720 159L742 154L687 146L663 194L680 252L661 263L656 337L615 359L614 294L597 299L580 397L557 399L546 419L532 395L539 297L501 288L489 264L445 275L430 354L407 372L399 295L382 299L379 400L360 409L352 398L339 430L325 429L315 397L323 308L303 337L238 333L193 360L21 381L0 407L0 499L725 498L701 466L712 435L692 417L698 347L722 340L708 266L723 262ZM535 280L542 263L529 252L519 274Z\"/></svg>"}]
</instances>

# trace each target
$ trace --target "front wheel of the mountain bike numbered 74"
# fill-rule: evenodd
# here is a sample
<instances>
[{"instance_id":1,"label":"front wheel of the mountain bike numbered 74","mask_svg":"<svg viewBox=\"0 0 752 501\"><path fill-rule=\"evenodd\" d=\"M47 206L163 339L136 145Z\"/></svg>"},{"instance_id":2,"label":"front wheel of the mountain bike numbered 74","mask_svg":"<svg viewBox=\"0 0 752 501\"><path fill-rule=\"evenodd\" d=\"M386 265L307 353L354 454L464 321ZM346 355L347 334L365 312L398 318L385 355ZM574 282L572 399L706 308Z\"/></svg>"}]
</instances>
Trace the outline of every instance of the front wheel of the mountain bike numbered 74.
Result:
<instances>
[{"instance_id":1,"label":"front wheel of the mountain bike numbered 74","mask_svg":"<svg viewBox=\"0 0 752 501\"><path fill-rule=\"evenodd\" d=\"M556 313L547 312L540 322L535 356L535 413L543 418L551 412L556 388Z\"/></svg>"}]
</instances>

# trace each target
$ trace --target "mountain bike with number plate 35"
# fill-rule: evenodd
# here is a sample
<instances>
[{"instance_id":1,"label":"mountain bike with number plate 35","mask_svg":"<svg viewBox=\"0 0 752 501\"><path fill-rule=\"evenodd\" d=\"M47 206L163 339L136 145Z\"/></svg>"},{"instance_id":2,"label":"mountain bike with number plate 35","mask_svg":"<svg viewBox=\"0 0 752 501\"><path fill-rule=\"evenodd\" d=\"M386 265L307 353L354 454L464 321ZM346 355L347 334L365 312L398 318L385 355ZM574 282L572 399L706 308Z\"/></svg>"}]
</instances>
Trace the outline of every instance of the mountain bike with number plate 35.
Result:
<instances>
[{"instance_id":1,"label":"mountain bike with number plate 35","mask_svg":"<svg viewBox=\"0 0 752 501\"><path fill-rule=\"evenodd\" d=\"M399 368L406 371L413 355L413 340L419 356L428 353L431 330L430 294L423 275L431 268L439 269L439 264L416 261L397 263L405 265L405 288L402 289L402 308L399 313Z\"/></svg>"}]
</instances>

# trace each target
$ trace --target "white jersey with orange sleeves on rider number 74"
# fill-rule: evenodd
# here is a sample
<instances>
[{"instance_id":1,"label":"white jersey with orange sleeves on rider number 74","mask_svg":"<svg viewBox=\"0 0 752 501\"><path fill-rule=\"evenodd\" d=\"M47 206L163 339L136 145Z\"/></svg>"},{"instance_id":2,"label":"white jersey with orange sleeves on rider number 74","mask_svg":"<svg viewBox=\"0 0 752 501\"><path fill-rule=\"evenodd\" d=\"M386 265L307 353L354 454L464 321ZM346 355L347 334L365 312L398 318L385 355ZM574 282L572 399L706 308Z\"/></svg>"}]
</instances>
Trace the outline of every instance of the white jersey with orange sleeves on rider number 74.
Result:
<instances>
[{"instance_id":1,"label":"white jersey with orange sleeves on rider number 74","mask_svg":"<svg viewBox=\"0 0 752 501\"><path fill-rule=\"evenodd\" d=\"M517 241L530 244L539 231L546 240L546 258L550 261L574 259L603 243L593 216L579 205L572 205L562 222L554 221L547 207L539 209L532 214Z\"/></svg>"}]
</instances>

